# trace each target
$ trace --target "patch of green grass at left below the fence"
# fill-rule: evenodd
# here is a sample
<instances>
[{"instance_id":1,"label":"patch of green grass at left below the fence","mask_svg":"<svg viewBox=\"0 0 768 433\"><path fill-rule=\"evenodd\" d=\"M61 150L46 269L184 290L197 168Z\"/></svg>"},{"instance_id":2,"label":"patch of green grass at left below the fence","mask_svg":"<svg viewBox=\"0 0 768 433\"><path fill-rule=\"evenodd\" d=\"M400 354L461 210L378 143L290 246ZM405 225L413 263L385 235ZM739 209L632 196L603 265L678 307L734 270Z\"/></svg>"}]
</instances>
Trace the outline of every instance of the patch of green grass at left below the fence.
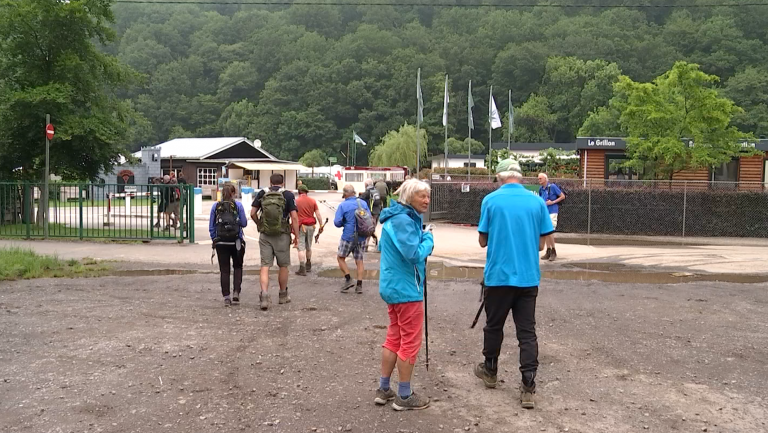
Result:
<instances>
[{"instance_id":1,"label":"patch of green grass at left below the fence","mask_svg":"<svg viewBox=\"0 0 768 433\"><path fill-rule=\"evenodd\" d=\"M30 249L0 248L0 281L31 278L75 278L104 275L109 267L93 259L63 261Z\"/></svg>"}]
</instances>

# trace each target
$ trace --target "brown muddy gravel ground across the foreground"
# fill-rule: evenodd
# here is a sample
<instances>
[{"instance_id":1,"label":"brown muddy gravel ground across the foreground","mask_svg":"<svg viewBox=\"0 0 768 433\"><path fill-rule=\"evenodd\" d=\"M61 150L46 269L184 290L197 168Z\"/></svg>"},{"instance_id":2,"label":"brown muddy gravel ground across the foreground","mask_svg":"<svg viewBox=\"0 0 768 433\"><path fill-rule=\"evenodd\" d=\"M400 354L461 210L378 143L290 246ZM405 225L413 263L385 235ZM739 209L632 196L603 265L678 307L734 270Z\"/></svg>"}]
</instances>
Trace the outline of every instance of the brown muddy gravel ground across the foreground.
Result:
<instances>
[{"instance_id":1,"label":"brown muddy gravel ground across the foreground","mask_svg":"<svg viewBox=\"0 0 768 433\"><path fill-rule=\"evenodd\" d=\"M433 404L399 413L372 401L387 324L375 282L342 295L338 280L291 278L293 302L273 293L268 312L253 272L230 309L213 274L0 283L0 431L768 431L765 283L544 280L525 411L511 320L503 383L486 390L478 286L433 280L430 370L422 356L413 381Z\"/></svg>"}]
</instances>

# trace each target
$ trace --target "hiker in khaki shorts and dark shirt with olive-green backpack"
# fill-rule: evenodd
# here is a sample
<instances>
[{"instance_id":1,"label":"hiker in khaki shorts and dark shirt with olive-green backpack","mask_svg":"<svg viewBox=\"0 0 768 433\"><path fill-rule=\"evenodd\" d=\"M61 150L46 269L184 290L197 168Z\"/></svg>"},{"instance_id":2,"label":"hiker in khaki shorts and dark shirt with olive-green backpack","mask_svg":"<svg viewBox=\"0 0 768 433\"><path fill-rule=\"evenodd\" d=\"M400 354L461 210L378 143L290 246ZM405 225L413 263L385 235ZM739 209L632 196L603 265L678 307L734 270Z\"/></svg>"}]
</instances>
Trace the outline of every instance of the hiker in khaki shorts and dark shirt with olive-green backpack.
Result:
<instances>
[{"instance_id":1,"label":"hiker in khaki shorts and dark shirt with olive-green backpack","mask_svg":"<svg viewBox=\"0 0 768 433\"><path fill-rule=\"evenodd\" d=\"M280 268L277 281L280 285L278 303L291 302L288 296L288 267L291 266L291 233L293 244L298 247L299 216L296 212L296 197L283 188L282 174L269 178L272 186L256 194L251 205L251 218L259 230L259 252L261 253L261 293L259 303L262 310L268 310L272 299L269 289L269 268L277 261Z\"/></svg>"}]
</instances>

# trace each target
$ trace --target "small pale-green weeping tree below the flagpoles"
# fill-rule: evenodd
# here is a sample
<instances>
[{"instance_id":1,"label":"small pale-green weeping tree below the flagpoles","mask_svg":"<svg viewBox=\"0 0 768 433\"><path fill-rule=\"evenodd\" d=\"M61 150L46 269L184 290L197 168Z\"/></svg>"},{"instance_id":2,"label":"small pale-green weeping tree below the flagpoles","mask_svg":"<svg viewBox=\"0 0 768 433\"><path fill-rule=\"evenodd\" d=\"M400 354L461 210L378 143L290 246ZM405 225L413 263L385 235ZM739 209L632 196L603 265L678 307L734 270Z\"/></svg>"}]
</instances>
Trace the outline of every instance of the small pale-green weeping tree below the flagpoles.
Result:
<instances>
[{"instance_id":1,"label":"small pale-green weeping tree below the flagpoles","mask_svg":"<svg viewBox=\"0 0 768 433\"><path fill-rule=\"evenodd\" d=\"M427 131L419 129L421 161L427 159ZM389 131L368 157L370 165L377 167L416 166L416 127L405 124L397 131Z\"/></svg>"}]
</instances>

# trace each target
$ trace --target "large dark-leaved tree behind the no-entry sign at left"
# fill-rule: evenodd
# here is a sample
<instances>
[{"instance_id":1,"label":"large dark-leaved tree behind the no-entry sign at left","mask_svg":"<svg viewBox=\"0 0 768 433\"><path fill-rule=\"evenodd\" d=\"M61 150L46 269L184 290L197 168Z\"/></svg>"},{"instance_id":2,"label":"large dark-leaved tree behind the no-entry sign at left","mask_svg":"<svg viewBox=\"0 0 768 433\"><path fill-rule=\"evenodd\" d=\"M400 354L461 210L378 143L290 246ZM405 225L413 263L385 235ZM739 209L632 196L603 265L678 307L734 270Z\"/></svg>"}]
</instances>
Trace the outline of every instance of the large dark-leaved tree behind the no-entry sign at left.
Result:
<instances>
[{"instance_id":1,"label":"large dark-leaved tree behind the no-entry sign at left","mask_svg":"<svg viewBox=\"0 0 768 433\"><path fill-rule=\"evenodd\" d=\"M124 153L132 110L115 91L132 72L97 49L115 39L109 0L0 3L0 176L42 176L51 114L53 172L94 179Z\"/></svg>"}]
</instances>

